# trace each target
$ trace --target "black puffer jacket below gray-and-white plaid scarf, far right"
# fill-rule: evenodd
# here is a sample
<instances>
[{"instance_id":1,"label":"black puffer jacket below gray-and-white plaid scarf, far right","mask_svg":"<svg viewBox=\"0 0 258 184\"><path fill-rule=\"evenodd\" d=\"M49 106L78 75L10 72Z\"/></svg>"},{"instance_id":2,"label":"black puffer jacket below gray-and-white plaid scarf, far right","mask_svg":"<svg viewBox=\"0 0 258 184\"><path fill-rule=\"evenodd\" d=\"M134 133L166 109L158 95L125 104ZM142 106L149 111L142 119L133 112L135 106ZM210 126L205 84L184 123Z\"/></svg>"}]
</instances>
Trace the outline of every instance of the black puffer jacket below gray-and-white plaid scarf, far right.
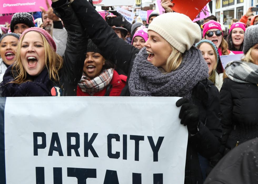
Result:
<instances>
[{"instance_id":1,"label":"black puffer jacket below gray-and-white plaid scarf, far right","mask_svg":"<svg viewBox=\"0 0 258 184\"><path fill-rule=\"evenodd\" d=\"M258 86L226 78L220 90L220 103L224 146L220 152L225 155L237 144L258 137Z\"/></svg>"}]
</instances>

